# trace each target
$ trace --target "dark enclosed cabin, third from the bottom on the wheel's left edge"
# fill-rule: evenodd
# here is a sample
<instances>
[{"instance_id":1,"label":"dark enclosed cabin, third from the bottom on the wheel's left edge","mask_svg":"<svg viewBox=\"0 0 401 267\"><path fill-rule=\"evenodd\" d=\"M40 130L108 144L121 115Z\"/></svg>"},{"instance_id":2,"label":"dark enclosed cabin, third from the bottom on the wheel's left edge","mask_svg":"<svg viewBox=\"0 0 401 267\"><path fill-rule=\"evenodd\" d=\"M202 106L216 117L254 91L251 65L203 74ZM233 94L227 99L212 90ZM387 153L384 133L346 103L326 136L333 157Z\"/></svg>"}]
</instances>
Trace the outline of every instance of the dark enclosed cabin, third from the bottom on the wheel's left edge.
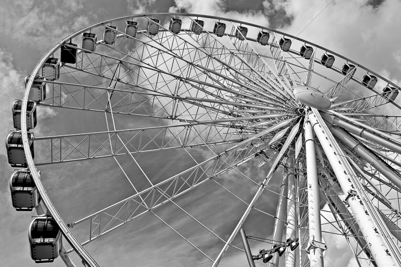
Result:
<instances>
[{"instance_id":1,"label":"dark enclosed cabin, third from the bottom on the wheel's left edge","mask_svg":"<svg viewBox=\"0 0 401 267\"><path fill-rule=\"evenodd\" d=\"M34 134L28 133L28 138L32 137L34 137ZM34 141L29 141L29 148L31 150L32 158L34 158ZM21 132L14 131L9 133L6 139L6 149L9 163L12 167L26 168L28 166L27 158L25 157Z\"/></svg>"}]
</instances>

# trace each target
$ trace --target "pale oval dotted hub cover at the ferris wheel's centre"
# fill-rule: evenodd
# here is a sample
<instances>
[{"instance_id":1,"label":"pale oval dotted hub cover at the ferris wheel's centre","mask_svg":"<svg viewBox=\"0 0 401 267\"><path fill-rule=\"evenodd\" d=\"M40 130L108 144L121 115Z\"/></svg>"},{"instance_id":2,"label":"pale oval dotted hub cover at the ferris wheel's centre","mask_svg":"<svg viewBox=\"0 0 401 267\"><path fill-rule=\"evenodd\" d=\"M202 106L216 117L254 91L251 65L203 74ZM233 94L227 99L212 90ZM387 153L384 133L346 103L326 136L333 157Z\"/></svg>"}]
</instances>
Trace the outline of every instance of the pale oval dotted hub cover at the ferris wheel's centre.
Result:
<instances>
[{"instance_id":1,"label":"pale oval dotted hub cover at the ferris wheel's centre","mask_svg":"<svg viewBox=\"0 0 401 267\"><path fill-rule=\"evenodd\" d=\"M325 94L310 86L295 87L294 96L302 104L318 110L327 110L331 106L330 99Z\"/></svg>"}]
</instances>

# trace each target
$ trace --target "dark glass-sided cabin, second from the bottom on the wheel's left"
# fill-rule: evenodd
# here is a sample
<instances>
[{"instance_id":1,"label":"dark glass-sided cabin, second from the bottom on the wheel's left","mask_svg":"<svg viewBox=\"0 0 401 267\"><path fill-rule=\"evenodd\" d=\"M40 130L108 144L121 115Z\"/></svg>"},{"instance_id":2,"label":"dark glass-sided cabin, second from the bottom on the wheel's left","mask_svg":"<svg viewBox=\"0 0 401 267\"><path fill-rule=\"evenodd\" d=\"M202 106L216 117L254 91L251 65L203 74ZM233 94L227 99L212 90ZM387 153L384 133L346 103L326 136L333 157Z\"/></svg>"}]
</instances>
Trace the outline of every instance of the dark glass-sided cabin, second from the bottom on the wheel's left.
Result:
<instances>
[{"instance_id":1,"label":"dark glass-sided cabin, second from the bottom on the wheel's left","mask_svg":"<svg viewBox=\"0 0 401 267\"><path fill-rule=\"evenodd\" d=\"M19 170L10 178L13 207L18 211L31 211L41 201L29 170Z\"/></svg>"}]
</instances>

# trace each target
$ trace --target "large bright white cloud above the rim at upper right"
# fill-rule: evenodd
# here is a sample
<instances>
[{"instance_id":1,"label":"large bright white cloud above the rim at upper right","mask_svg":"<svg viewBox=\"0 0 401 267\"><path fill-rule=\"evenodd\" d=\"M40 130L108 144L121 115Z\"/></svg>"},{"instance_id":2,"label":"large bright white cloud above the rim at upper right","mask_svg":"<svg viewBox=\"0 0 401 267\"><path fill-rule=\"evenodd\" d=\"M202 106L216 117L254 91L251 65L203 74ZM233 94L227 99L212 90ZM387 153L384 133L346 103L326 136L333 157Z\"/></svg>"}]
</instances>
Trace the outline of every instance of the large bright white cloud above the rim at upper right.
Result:
<instances>
[{"instance_id":1,"label":"large bright white cloud above the rim at upper right","mask_svg":"<svg viewBox=\"0 0 401 267\"><path fill-rule=\"evenodd\" d=\"M277 0L273 4L276 9L283 8L293 16L293 23L282 30L297 35L330 2ZM400 53L397 44L401 42L401 36L395 34L401 23L400 9L401 2L396 0L334 1L299 37L327 47L373 71L384 69L389 74L387 78L392 79L401 74L399 57L396 56Z\"/></svg>"}]
</instances>

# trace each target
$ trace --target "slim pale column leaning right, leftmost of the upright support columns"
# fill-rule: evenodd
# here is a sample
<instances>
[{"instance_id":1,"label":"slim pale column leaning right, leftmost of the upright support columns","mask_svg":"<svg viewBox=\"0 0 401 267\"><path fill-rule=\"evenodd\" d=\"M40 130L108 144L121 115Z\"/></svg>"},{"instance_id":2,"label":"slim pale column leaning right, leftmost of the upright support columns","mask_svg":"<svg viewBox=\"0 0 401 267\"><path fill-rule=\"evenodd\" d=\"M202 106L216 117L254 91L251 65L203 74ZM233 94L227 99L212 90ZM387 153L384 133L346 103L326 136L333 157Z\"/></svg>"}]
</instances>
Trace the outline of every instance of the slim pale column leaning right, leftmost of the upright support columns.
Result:
<instances>
[{"instance_id":1,"label":"slim pale column leaning right, leftmost of the upright support columns","mask_svg":"<svg viewBox=\"0 0 401 267\"><path fill-rule=\"evenodd\" d=\"M285 224L285 214L287 209L287 180L288 180L288 170L283 171L283 179L281 180L280 186L280 197L279 203L276 211L276 220L274 222L274 230L273 230L273 240L282 241L283 232L284 232L284 224ZM273 248L274 245L272 245ZM273 253L273 258L269 261L269 266L271 264L278 265L280 256L278 253Z\"/></svg>"}]
</instances>

